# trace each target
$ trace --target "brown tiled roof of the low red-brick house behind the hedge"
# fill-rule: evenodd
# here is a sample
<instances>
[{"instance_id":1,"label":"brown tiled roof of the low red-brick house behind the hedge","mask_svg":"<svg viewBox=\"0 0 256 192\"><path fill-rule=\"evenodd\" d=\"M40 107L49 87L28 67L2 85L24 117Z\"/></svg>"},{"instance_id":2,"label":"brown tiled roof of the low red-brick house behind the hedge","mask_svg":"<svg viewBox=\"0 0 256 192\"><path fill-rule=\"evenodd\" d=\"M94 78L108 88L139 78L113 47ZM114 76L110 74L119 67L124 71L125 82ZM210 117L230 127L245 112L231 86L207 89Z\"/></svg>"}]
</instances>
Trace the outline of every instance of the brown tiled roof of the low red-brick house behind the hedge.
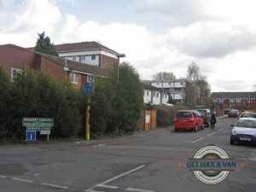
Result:
<instances>
[{"instance_id":1,"label":"brown tiled roof of the low red-brick house behind the hedge","mask_svg":"<svg viewBox=\"0 0 256 192\"><path fill-rule=\"evenodd\" d=\"M71 70L80 72L80 73L90 73L97 76L104 76L106 77L108 75L108 71L106 69L103 69L101 67L91 66L89 64L80 63L77 61L70 61L67 59L63 59L59 56L54 55L47 55L44 53L37 52L38 55L43 56L44 58L49 59L50 61L54 61L55 63L65 67L70 68Z\"/></svg>"}]
</instances>

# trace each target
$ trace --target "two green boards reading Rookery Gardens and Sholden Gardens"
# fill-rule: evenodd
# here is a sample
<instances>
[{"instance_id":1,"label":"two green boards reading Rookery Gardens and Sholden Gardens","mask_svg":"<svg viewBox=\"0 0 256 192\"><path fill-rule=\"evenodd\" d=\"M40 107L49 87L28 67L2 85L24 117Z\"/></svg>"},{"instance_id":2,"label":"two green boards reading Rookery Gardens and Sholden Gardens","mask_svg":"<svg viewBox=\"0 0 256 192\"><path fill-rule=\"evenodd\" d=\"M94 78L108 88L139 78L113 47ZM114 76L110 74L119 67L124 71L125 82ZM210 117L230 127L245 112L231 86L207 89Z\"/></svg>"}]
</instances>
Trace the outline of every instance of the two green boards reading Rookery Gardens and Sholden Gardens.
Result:
<instances>
[{"instance_id":1,"label":"two green boards reading Rookery Gardens and Sholden Gardens","mask_svg":"<svg viewBox=\"0 0 256 192\"><path fill-rule=\"evenodd\" d=\"M26 127L51 127L54 125L53 118L22 118L22 126Z\"/></svg>"}]
</instances>

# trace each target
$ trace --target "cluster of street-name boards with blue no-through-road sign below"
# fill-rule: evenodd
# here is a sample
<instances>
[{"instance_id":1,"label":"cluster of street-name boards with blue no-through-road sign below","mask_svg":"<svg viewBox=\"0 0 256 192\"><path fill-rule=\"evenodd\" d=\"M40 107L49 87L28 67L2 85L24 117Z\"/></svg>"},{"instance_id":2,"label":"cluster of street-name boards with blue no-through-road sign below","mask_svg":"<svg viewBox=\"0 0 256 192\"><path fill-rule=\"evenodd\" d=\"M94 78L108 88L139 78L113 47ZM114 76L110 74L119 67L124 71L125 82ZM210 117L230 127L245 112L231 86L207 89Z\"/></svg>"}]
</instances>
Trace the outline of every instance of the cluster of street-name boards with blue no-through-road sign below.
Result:
<instances>
[{"instance_id":1,"label":"cluster of street-name boards with blue no-through-road sign below","mask_svg":"<svg viewBox=\"0 0 256 192\"><path fill-rule=\"evenodd\" d=\"M26 126L26 141L36 141L37 131L47 135L49 142L50 128L55 125L53 118L22 118L22 126Z\"/></svg>"}]
</instances>

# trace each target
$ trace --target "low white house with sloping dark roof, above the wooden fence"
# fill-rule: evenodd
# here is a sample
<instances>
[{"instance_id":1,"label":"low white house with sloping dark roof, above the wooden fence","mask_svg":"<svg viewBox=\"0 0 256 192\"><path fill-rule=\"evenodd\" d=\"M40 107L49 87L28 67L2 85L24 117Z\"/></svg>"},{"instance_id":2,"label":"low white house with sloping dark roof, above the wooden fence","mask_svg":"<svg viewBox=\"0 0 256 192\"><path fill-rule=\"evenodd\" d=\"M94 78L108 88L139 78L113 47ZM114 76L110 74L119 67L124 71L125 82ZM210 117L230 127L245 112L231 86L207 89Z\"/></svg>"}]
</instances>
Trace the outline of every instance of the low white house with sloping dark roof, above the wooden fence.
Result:
<instances>
[{"instance_id":1,"label":"low white house with sloping dark roof, above the wooden fence","mask_svg":"<svg viewBox=\"0 0 256 192\"><path fill-rule=\"evenodd\" d=\"M163 92L161 89L156 88L150 84L143 84L144 90L144 103L151 104L166 104L169 100L169 96Z\"/></svg>"}]
</instances>

